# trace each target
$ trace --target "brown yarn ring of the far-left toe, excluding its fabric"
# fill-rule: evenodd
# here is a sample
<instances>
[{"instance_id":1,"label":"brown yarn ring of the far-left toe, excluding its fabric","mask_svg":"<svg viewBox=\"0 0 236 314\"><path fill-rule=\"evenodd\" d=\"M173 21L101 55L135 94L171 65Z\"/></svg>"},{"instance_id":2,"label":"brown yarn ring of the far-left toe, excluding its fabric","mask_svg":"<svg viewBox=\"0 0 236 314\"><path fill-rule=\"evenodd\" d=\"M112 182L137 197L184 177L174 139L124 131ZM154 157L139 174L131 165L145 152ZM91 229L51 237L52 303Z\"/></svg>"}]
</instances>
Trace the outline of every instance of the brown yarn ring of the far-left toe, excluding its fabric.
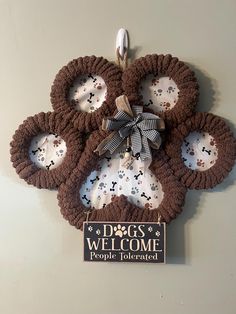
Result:
<instances>
[{"instance_id":1,"label":"brown yarn ring of the far-left toe, excluding its fabric","mask_svg":"<svg viewBox=\"0 0 236 314\"><path fill-rule=\"evenodd\" d=\"M52 170L37 167L29 157L33 137L44 132L56 133L66 143L62 164ZM16 130L11 146L11 161L20 178L37 188L54 189L66 181L76 167L84 148L83 137L62 113L41 112L28 117Z\"/></svg>"}]
</instances>

